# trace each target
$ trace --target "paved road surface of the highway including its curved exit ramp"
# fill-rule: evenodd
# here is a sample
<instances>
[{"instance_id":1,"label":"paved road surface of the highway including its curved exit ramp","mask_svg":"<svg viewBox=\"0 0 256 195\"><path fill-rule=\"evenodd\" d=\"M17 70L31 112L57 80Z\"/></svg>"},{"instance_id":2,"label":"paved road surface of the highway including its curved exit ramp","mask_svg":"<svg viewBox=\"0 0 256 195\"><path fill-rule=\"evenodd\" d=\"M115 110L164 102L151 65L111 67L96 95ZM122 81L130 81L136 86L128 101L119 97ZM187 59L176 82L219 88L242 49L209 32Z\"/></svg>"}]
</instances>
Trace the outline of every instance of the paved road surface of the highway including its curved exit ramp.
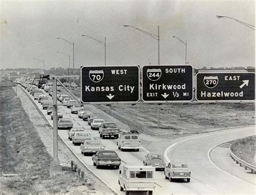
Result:
<instances>
[{"instance_id":1,"label":"paved road surface of the highway including its curved exit ramp","mask_svg":"<svg viewBox=\"0 0 256 195\"><path fill-rule=\"evenodd\" d=\"M33 97L31 96L31 98ZM38 103L37 101L35 101L35 103L52 125L51 117L46 114L46 110L42 109L41 103ZM88 107L91 108L93 113L97 112L95 114L103 116L105 121L112 121L112 117L106 113L96 109L92 105L88 105ZM66 108L65 106L58 106L58 108L63 113L63 117L70 117L74 123L74 127L84 128L88 133L95 137L96 140L100 140L107 149L116 151L118 156L122 159L120 169L122 169L122 165L124 164L143 165L143 159L148 152L146 145L143 145L145 149L140 149L140 151L120 151L118 150L116 139L107 138L103 140L99 137L98 130L91 130L87 121L79 119L77 114L71 114L70 108ZM118 126L120 129L123 129L124 127L125 129L129 129L129 127L122 124L122 122L119 122ZM156 191L154 191L154 194L255 194L254 184L245 182L230 173L220 170L218 166L213 163L210 152L217 144L240 137L250 136L254 133L254 127L239 128L178 138L170 142L170 147L169 145L166 145L165 142L159 142L158 147L163 148L162 152L164 153L165 151L167 160L185 162L188 164L191 169L192 178L190 183L187 183L185 180L169 182L169 180L165 179L163 171L157 171ZM111 188L118 194L125 194L125 192L119 191L119 170L110 168L96 169L96 166L93 166L92 157L82 155L79 146L73 145L72 141L68 139L68 130L58 130L58 134L89 169L104 180L107 185L111 186Z\"/></svg>"}]
</instances>

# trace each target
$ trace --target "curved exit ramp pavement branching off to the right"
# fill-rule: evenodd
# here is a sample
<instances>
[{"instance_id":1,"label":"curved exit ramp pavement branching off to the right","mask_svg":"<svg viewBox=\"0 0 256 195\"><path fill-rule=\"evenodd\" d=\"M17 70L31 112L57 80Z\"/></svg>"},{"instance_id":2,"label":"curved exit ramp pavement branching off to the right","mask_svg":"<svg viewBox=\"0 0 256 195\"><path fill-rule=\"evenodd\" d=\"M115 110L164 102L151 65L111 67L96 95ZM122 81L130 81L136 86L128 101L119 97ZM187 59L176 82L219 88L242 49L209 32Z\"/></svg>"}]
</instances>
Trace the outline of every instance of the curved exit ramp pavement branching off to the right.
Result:
<instances>
[{"instance_id":1,"label":"curved exit ramp pavement branching off to the right","mask_svg":"<svg viewBox=\"0 0 256 195\"><path fill-rule=\"evenodd\" d=\"M177 144L169 152L173 161L188 163L192 179L198 180L217 193L255 193L255 185L217 169L208 159L208 151L219 143L254 135L254 127L202 135ZM227 162L228 163L228 162Z\"/></svg>"}]
</instances>

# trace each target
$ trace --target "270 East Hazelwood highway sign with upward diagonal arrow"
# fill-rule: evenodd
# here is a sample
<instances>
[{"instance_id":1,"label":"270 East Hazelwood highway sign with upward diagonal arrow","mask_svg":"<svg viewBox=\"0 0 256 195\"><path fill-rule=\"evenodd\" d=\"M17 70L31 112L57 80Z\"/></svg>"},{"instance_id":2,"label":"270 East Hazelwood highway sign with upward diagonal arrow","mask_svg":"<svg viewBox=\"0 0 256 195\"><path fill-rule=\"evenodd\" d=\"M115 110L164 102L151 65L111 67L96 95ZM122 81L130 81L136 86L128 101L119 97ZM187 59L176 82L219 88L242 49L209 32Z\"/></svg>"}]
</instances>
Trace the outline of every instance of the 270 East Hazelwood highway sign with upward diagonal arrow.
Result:
<instances>
[{"instance_id":1,"label":"270 East Hazelwood highway sign with upward diagonal arrow","mask_svg":"<svg viewBox=\"0 0 256 195\"><path fill-rule=\"evenodd\" d=\"M255 73L198 73L197 101L255 100Z\"/></svg>"}]
</instances>

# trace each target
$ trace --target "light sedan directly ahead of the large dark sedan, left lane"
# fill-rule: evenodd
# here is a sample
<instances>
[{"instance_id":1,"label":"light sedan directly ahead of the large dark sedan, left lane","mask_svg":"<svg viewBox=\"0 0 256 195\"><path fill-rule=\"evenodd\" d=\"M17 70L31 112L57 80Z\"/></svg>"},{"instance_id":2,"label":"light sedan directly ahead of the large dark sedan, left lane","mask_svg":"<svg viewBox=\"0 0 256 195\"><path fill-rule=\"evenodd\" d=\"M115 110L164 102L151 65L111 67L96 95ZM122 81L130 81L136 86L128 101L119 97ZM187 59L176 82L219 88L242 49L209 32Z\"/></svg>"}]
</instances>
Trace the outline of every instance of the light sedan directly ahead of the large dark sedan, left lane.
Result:
<instances>
[{"instance_id":1,"label":"light sedan directly ahead of the large dark sedan, left lane","mask_svg":"<svg viewBox=\"0 0 256 195\"><path fill-rule=\"evenodd\" d=\"M81 153L84 154L84 156L89 154L96 154L99 150L105 150L104 145L99 140L90 140L90 141L84 141L80 145Z\"/></svg>"}]
</instances>

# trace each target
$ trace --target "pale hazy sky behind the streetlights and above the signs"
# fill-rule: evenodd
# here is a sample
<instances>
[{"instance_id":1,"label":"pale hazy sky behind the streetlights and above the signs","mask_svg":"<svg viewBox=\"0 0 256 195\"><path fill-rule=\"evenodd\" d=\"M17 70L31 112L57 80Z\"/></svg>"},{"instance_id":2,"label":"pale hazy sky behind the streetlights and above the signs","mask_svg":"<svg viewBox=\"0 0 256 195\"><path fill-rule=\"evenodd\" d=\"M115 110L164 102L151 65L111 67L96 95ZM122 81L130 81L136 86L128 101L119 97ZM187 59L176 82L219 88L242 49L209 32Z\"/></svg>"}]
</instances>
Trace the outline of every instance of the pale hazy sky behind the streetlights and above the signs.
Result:
<instances>
[{"instance_id":1,"label":"pale hazy sky behind the streetlights and above the signs","mask_svg":"<svg viewBox=\"0 0 256 195\"><path fill-rule=\"evenodd\" d=\"M161 65L255 66L254 1L1 1L0 68ZM255 25L254 25L255 26ZM57 52L58 51L58 52ZM65 54L62 54L62 53ZM38 60L35 60L36 58ZM39 61L41 60L41 61Z\"/></svg>"}]
</instances>

